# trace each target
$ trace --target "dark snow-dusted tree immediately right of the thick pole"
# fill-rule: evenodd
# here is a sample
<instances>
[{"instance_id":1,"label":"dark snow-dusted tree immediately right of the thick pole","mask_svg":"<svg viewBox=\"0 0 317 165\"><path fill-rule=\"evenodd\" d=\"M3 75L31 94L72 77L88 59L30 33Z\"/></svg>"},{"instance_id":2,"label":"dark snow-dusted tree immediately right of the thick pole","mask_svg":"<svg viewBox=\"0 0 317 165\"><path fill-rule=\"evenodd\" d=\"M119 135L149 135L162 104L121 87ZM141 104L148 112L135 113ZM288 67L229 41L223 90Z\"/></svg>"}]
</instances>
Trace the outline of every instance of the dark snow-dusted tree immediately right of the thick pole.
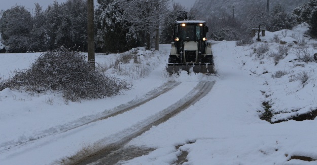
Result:
<instances>
[{"instance_id":1,"label":"dark snow-dusted tree immediately right of the thick pole","mask_svg":"<svg viewBox=\"0 0 317 165\"><path fill-rule=\"evenodd\" d=\"M123 52L139 46L135 35L129 33L130 22L123 17L122 0L99 0L96 10L97 48L103 52Z\"/></svg>"}]
</instances>

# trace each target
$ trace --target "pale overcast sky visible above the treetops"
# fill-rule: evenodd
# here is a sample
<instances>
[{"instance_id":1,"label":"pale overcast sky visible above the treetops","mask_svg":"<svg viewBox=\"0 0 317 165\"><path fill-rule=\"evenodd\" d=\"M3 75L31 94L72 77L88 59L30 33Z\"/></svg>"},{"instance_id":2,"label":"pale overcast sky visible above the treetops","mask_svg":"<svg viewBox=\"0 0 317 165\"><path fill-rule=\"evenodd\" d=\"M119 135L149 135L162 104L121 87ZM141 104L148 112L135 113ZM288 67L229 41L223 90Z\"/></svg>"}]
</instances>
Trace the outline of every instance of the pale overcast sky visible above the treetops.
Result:
<instances>
[{"instance_id":1,"label":"pale overcast sky visible above the treetops","mask_svg":"<svg viewBox=\"0 0 317 165\"><path fill-rule=\"evenodd\" d=\"M190 9L196 0L173 0L180 3L187 9ZM57 0L58 3L64 3L66 0ZM7 10L15 5L25 6L27 9L32 10L35 7L35 3L39 3L45 10L48 5L53 4L53 0L1 0L0 10ZM97 0L94 0L94 4L97 4Z\"/></svg>"}]
</instances>

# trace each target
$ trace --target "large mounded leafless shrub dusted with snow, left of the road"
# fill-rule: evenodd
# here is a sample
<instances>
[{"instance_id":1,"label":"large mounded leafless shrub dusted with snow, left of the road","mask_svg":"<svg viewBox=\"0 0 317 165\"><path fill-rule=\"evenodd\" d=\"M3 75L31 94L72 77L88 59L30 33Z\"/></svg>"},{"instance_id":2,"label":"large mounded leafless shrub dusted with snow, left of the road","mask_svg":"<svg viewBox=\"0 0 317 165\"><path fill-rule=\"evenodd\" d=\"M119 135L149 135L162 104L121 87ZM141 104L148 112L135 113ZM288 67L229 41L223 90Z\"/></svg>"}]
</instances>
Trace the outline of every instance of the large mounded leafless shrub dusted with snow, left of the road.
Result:
<instances>
[{"instance_id":1,"label":"large mounded leafless shrub dusted with snow, left of the road","mask_svg":"<svg viewBox=\"0 0 317 165\"><path fill-rule=\"evenodd\" d=\"M126 81L95 71L84 55L65 48L43 53L30 69L19 71L0 84L0 90L60 91L65 100L74 102L113 96L129 87Z\"/></svg>"}]
</instances>

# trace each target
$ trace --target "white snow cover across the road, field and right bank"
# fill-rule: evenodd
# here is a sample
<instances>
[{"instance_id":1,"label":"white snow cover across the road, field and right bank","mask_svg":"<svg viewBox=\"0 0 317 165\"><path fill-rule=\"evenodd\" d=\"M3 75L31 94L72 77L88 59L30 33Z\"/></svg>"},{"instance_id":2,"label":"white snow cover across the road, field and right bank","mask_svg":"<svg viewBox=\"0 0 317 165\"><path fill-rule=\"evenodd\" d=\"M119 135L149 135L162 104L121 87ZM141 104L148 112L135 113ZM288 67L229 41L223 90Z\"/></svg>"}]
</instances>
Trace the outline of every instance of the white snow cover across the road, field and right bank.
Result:
<instances>
[{"instance_id":1,"label":"white snow cover across the road, field and right bank","mask_svg":"<svg viewBox=\"0 0 317 165\"><path fill-rule=\"evenodd\" d=\"M266 31L261 38L264 42L248 46L226 41L214 44L216 76L185 72L168 76L165 65L170 45L161 45L154 54L140 49L140 61L145 62L149 73L142 77L119 75L131 81L133 88L103 100L66 104L60 93L0 91L0 164L58 163L56 160L84 147L116 139L116 133L172 105L201 81L215 81L205 97L127 144L155 150L121 164L172 164L182 151L188 152L184 164L317 164L317 121L288 120L317 109L317 63L296 60L298 44L293 42L304 42L306 30L298 26L294 30ZM277 63L272 56L279 52L280 41L285 41L289 49ZM305 42L307 52L317 52L314 40L306 37ZM259 51L266 46L268 51ZM6 79L14 70L27 69L39 55L0 54L0 77ZM107 63L118 55L98 54L96 61ZM305 82L301 82L303 73L308 77ZM109 74L117 72L110 69ZM115 125L98 121L61 133L173 81L181 84L148 102L142 114L133 111L112 117ZM271 122L288 121L271 124L259 119L263 102L271 106Z\"/></svg>"}]
</instances>

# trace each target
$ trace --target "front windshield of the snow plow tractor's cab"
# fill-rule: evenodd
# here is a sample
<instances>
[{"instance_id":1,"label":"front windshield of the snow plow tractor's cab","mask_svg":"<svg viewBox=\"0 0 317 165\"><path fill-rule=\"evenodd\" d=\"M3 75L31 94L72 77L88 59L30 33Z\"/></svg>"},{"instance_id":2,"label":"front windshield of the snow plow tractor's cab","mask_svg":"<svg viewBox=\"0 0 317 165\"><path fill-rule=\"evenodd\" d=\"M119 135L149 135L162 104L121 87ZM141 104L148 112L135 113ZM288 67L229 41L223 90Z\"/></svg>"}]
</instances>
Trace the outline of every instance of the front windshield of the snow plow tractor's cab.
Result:
<instances>
[{"instance_id":1,"label":"front windshield of the snow plow tractor's cab","mask_svg":"<svg viewBox=\"0 0 317 165\"><path fill-rule=\"evenodd\" d=\"M180 38L183 40L198 41L201 38L201 29L198 25L180 26Z\"/></svg>"}]
</instances>

